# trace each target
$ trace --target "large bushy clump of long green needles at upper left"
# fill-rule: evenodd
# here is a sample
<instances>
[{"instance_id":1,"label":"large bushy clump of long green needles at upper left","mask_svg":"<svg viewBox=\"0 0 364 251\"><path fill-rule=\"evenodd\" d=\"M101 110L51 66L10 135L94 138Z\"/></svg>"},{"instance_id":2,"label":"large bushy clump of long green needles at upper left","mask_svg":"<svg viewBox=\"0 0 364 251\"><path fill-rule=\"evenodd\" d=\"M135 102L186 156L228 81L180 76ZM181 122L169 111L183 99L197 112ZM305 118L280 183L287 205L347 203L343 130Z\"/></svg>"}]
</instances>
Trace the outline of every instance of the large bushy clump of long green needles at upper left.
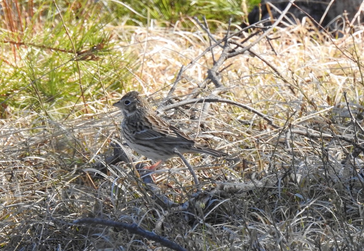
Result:
<instances>
[{"instance_id":1,"label":"large bushy clump of long green needles at upper left","mask_svg":"<svg viewBox=\"0 0 364 251\"><path fill-rule=\"evenodd\" d=\"M101 4L85 1L80 5L83 11L77 13L72 6L60 5L59 12L52 1L39 1L35 5L39 3L29 22L33 26L25 30L17 18L24 18L29 10L21 13L21 17L14 9L8 10L13 11L9 23L17 29L2 36L4 41L12 42L3 45L13 53L5 54L9 56L8 63L2 62L1 102L6 100L7 105L20 109L31 106L35 111L47 111L84 101L85 97L101 99L103 91L122 87L122 81L130 80L126 67L138 67L135 55L124 48L124 59L120 60L116 50L123 45L119 39L110 37L110 31L104 27L110 20L107 15L99 15ZM99 58L97 61L75 55L101 43L102 48L92 51ZM113 60L115 57L119 58L118 64Z\"/></svg>"}]
</instances>

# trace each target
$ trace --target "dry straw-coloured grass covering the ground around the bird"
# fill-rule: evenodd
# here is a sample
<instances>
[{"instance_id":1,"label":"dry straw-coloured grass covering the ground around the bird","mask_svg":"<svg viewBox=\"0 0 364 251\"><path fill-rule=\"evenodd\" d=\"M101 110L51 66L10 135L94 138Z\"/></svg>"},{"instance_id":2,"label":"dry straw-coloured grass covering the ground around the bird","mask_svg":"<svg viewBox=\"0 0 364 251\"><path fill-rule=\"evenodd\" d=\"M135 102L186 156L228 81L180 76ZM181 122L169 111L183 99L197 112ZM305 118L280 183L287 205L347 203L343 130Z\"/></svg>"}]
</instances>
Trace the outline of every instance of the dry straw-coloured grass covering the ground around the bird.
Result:
<instances>
[{"instance_id":1,"label":"dry straw-coloured grass covering the ground around the bird","mask_svg":"<svg viewBox=\"0 0 364 251\"><path fill-rule=\"evenodd\" d=\"M135 79L124 88L141 90L155 105L166 96L179 68L209 46L199 29L113 29L134 44L140 63L132 72ZM215 36L222 38L223 32ZM362 125L363 30L337 40L322 36L308 27L277 28L270 34L276 37L271 45L263 40L253 47L284 79L257 57L241 55L225 62L232 65L221 72L227 90L220 97L265 113L278 129L224 103L212 103L208 116L201 114L201 104L167 112L172 123L191 135L198 132L197 140L208 140L211 147L230 154L226 159L189 158L204 189L221 184L239 189L196 206L194 215L168 215L158 234L187 250L360 250L363 154L354 155L353 144L325 135L363 142L364 132L351 123L343 97L347 92ZM196 88L212 62L210 54L197 60L183 74L175 96L183 99ZM201 89L200 96L213 89ZM112 90L103 94L117 98ZM110 155L109 144L118 137L116 125L122 118L111 103L92 100L89 114L83 115L84 104L76 104L67 120L50 120L30 110L1 120L4 250L162 250L158 243L124 230L72 224L96 217L137 223L151 231L170 210L153 200L126 164L108 167L107 178L94 176L100 171L93 171L92 163ZM198 122L203 127L197 128ZM185 202L195 191L191 175L179 159L164 167L157 185L174 202Z\"/></svg>"}]
</instances>

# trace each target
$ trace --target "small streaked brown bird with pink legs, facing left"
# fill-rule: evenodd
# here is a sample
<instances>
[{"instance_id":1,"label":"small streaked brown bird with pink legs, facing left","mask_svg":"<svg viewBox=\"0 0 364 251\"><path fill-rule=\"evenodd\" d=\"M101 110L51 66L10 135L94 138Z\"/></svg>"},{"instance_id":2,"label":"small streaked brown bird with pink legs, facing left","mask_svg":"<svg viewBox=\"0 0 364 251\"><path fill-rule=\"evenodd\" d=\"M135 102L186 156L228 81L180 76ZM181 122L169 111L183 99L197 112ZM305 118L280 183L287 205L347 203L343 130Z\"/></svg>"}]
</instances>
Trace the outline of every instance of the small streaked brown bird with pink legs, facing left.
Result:
<instances>
[{"instance_id":1,"label":"small streaked brown bird with pink legs, facing left","mask_svg":"<svg viewBox=\"0 0 364 251\"><path fill-rule=\"evenodd\" d=\"M225 152L199 146L178 128L155 115L148 102L137 91L126 93L113 104L123 112L121 131L128 146L149 159L156 161L149 169L155 170L161 163L181 154L200 153L214 157L227 156Z\"/></svg>"}]
</instances>

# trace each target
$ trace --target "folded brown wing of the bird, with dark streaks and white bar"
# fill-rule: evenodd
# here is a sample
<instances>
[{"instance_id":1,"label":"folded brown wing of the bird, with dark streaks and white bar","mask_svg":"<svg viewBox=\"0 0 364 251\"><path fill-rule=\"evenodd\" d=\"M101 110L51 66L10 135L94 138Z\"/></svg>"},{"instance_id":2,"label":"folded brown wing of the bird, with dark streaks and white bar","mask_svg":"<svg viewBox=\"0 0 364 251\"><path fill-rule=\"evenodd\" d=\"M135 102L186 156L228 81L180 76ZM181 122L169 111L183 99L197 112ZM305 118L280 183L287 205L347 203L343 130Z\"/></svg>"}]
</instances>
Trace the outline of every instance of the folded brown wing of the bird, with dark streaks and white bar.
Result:
<instances>
[{"instance_id":1,"label":"folded brown wing of the bird, with dark streaks and white bar","mask_svg":"<svg viewBox=\"0 0 364 251\"><path fill-rule=\"evenodd\" d=\"M157 116L146 117L146 121L137 126L139 130L135 131L135 139L164 144L194 144L188 135Z\"/></svg>"}]
</instances>

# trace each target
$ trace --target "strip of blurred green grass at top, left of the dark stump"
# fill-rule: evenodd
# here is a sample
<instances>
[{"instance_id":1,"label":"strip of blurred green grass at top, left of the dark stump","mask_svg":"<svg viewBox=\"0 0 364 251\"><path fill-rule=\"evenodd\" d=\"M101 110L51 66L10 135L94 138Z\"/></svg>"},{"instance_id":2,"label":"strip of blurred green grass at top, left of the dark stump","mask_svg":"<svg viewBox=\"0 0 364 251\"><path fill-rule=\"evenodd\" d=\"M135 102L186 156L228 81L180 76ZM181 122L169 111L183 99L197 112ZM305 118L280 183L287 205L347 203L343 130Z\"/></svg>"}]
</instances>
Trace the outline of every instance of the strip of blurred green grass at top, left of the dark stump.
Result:
<instances>
[{"instance_id":1,"label":"strip of blurred green grass at top, left of the dark stump","mask_svg":"<svg viewBox=\"0 0 364 251\"><path fill-rule=\"evenodd\" d=\"M257 0L247 1L248 7L252 8L258 2ZM143 1L123 1L125 8L120 8L119 2L109 5L112 15L115 17L115 23L124 21L127 25L144 26L153 19L157 25L173 26L176 23L183 28L193 27L191 17L206 17L211 21L211 29L216 29L218 23L212 20L226 23L229 18L235 23L241 23L242 17L246 15L242 9L241 0L143 0ZM120 20L121 19L121 20Z\"/></svg>"}]
</instances>

